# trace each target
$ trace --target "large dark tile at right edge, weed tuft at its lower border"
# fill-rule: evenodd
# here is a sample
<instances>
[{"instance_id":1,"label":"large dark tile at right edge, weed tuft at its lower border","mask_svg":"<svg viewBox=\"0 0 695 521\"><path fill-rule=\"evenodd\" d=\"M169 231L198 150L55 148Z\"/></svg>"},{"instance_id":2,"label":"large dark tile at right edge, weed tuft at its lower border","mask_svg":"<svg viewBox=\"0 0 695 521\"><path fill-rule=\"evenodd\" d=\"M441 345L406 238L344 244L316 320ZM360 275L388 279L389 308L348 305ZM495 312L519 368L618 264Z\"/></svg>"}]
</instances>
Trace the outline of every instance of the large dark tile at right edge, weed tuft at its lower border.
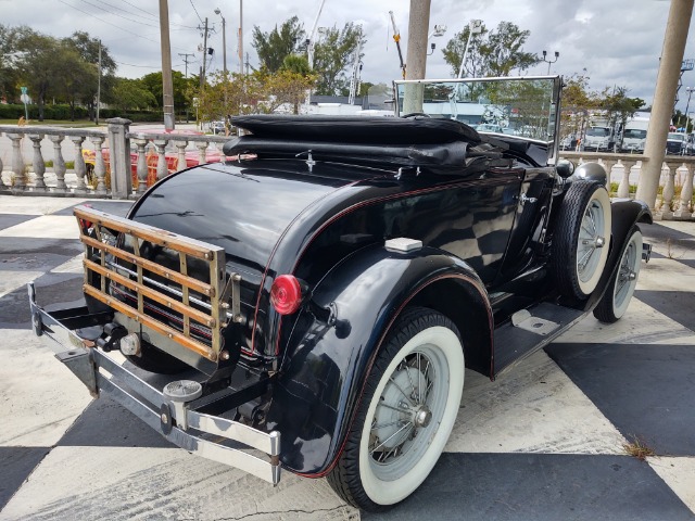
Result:
<instances>
[{"instance_id":1,"label":"large dark tile at right edge, weed tuft at its lower border","mask_svg":"<svg viewBox=\"0 0 695 521\"><path fill-rule=\"evenodd\" d=\"M695 345L552 344L545 348L628 440L695 456Z\"/></svg>"}]
</instances>

